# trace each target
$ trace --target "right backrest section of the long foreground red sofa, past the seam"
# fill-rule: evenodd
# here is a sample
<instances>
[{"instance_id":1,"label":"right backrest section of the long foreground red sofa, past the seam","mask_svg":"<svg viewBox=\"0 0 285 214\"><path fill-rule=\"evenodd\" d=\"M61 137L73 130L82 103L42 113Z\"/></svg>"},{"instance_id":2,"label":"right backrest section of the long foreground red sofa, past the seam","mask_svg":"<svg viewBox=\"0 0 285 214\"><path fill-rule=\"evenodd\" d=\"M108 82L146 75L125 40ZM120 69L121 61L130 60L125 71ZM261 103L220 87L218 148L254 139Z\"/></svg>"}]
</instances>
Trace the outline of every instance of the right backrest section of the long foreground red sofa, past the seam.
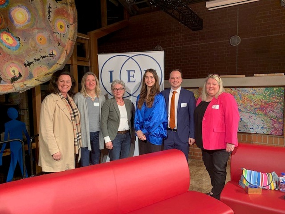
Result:
<instances>
[{"instance_id":1,"label":"right backrest section of the long foreground red sofa, past the seam","mask_svg":"<svg viewBox=\"0 0 285 214\"><path fill-rule=\"evenodd\" d=\"M190 185L187 160L176 149L113 161L112 169L122 213L185 193Z\"/></svg>"}]
</instances>

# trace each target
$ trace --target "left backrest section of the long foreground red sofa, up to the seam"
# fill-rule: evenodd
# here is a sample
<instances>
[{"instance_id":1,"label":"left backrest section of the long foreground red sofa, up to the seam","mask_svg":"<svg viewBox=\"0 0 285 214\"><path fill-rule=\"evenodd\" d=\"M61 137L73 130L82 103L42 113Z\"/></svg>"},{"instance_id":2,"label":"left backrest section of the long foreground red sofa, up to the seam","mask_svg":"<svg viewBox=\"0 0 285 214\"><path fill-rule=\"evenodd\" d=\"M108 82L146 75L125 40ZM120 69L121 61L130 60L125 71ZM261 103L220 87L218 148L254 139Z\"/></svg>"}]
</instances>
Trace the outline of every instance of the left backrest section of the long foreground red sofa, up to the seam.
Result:
<instances>
[{"instance_id":1,"label":"left backrest section of the long foreground red sofa, up to the seam","mask_svg":"<svg viewBox=\"0 0 285 214\"><path fill-rule=\"evenodd\" d=\"M0 213L115 213L117 193L110 163L0 185ZM110 203L112 201L112 203ZM108 207L108 209L106 209Z\"/></svg>"}]
</instances>

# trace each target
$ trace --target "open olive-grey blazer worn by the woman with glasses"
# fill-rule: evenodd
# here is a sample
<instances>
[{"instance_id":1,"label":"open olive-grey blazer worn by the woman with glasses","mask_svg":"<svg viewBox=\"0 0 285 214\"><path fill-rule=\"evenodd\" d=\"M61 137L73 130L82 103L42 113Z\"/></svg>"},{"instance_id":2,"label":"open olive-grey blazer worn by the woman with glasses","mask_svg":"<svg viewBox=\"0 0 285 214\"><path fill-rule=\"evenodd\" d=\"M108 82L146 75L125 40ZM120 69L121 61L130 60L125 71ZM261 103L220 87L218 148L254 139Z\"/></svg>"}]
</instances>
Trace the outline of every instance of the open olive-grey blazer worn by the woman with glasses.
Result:
<instances>
[{"instance_id":1,"label":"open olive-grey blazer worn by the woman with glasses","mask_svg":"<svg viewBox=\"0 0 285 214\"><path fill-rule=\"evenodd\" d=\"M132 113L132 101L129 99L124 99L125 106L128 115L128 122L130 127L130 132L132 136L132 120L133 120L133 113ZM111 141L115 139L118 133L119 123L120 123L120 111L118 108L118 104L115 98L111 98L106 100L102 109L101 109L101 132L103 137L109 136Z\"/></svg>"}]
</instances>

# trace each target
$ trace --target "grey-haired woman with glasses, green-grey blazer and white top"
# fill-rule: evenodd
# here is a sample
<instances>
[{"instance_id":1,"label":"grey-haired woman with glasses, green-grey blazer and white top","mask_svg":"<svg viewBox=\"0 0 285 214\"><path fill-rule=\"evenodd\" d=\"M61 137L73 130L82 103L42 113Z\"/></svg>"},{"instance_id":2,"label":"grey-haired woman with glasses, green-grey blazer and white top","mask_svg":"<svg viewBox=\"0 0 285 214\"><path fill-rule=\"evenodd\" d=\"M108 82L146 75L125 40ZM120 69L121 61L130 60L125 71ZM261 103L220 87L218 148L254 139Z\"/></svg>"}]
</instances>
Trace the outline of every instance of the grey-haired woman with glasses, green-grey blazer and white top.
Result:
<instances>
[{"instance_id":1,"label":"grey-haired woman with glasses, green-grey blazer and white top","mask_svg":"<svg viewBox=\"0 0 285 214\"><path fill-rule=\"evenodd\" d=\"M127 158L131 147L132 102L124 99L125 83L114 80L111 84L114 97L102 107L101 131L110 161Z\"/></svg>"}]
</instances>

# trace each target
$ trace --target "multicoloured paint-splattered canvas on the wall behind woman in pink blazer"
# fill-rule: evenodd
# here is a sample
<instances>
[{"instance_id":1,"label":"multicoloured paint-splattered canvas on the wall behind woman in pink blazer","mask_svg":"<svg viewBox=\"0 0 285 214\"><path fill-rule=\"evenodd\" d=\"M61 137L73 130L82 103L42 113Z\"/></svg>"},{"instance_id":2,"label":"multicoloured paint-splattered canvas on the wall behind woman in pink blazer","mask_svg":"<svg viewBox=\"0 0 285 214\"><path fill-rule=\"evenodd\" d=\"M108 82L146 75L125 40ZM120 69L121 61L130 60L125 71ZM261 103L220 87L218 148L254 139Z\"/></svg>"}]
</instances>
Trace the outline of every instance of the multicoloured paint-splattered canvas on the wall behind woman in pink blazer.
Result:
<instances>
[{"instance_id":1,"label":"multicoloured paint-splattered canvas on the wall behind woman in pink blazer","mask_svg":"<svg viewBox=\"0 0 285 214\"><path fill-rule=\"evenodd\" d=\"M237 100L239 132L283 135L284 87L225 88Z\"/></svg>"}]
</instances>

